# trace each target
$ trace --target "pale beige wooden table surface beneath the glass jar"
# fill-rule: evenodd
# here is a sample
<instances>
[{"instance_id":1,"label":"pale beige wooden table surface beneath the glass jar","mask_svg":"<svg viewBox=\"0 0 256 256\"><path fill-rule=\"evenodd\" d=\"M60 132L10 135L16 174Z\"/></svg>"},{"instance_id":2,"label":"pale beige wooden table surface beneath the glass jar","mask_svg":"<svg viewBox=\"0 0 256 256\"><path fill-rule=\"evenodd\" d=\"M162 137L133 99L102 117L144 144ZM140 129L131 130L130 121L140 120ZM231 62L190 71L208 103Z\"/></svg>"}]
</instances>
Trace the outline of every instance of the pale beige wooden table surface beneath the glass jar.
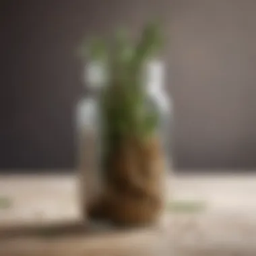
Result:
<instances>
[{"instance_id":1,"label":"pale beige wooden table surface beneath the glass jar","mask_svg":"<svg viewBox=\"0 0 256 256\"><path fill-rule=\"evenodd\" d=\"M89 228L79 221L76 179L2 176L0 256L7 255L256 255L256 176L177 175L176 199L205 200L203 212L166 211L141 230ZM254 200L253 200L254 199Z\"/></svg>"}]
</instances>

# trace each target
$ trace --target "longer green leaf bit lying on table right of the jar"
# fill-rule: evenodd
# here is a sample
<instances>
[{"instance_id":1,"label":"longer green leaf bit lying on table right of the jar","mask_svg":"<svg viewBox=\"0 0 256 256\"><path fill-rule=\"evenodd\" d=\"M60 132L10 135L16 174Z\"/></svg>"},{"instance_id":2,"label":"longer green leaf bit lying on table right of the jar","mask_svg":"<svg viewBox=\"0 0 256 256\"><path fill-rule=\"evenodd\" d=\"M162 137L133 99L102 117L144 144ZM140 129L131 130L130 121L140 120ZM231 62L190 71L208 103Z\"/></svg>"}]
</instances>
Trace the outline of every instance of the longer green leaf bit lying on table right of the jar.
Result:
<instances>
[{"instance_id":1,"label":"longer green leaf bit lying on table right of the jar","mask_svg":"<svg viewBox=\"0 0 256 256\"><path fill-rule=\"evenodd\" d=\"M167 205L168 212L192 213L205 210L205 201L170 201Z\"/></svg>"}]
</instances>

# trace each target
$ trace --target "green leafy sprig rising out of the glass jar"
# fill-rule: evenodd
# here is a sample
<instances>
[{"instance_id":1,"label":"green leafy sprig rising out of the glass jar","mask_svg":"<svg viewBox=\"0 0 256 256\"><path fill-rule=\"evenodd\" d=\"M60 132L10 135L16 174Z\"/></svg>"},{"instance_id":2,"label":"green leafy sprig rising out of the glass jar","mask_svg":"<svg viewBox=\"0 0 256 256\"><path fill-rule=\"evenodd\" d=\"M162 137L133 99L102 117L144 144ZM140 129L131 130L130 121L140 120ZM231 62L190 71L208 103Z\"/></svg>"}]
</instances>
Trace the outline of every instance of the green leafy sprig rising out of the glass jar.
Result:
<instances>
[{"instance_id":1,"label":"green leafy sprig rising out of the glass jar","mask_svg":"<svg viewBox=\"0 0 256 256\"><path fill-rule=\"evenodd\" d=\"M148 109L142 74L147 61L158 55L162 35L158 24L149 23L138 42L132 43L128 33L121 29L112 46L94 39L89 46L83 44L80 51L90 61L108 64L109 79L102 92L100 110L109 144L127 135L143 138L156 130L158 113Z\"/></svg>"}]
</instances>

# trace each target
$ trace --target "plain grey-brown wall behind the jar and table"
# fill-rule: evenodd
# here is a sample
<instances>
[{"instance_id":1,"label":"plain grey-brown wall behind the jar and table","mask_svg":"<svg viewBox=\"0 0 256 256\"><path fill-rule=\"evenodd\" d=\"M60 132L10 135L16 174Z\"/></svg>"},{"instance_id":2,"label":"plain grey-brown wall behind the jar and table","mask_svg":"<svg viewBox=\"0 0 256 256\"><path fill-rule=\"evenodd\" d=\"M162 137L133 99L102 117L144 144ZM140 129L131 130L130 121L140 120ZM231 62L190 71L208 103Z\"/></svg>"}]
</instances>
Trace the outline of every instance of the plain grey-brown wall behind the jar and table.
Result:
<instances>
[{"instance_id":1,"label":"plain grey-brown wall behind the jar and table","mask_svg":"<svg viewBox=\"0 0 256 256\"><path fill-rule=\"evenodd\" d=\"M74 49L160 15L179 168L256 166L256 1L2 0L0 168L74 166Z\"/></svg>"}]
</instances>

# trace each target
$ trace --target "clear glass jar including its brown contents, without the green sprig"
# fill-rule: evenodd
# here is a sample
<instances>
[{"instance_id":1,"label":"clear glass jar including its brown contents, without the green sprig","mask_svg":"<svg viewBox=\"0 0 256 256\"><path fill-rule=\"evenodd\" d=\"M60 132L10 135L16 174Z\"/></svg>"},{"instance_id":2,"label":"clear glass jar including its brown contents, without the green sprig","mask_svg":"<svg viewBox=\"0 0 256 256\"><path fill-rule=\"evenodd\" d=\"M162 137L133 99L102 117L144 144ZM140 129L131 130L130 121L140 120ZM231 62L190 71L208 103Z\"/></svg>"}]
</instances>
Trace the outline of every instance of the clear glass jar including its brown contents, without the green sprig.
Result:
<instances>
[{"instance_id":1,"label":"clear glass jar including its brown contents, without the green sprig","mask_svg":"<svg viewBox=\"0 0 256 256\"><path fill-rule=\"evenodd\" d=\"M160 117L154 137L145 146L136 139L123 141L125 146L108 157L108 167L102 164L110 145L102 134L100 110L106 69L100 63L91 63L85 78L89 93L77 107L82 214L87 218L90 210L98 207L92 212L101 212L104 218L119 224L152 222L164 207L163 184L171 162L172 104L164 90L164 63L154 60L146 65L146 111ZM132 131L134 127L125 128ZM101 209L99 202L104 205Z\"/></svg>"}]
</instances>

